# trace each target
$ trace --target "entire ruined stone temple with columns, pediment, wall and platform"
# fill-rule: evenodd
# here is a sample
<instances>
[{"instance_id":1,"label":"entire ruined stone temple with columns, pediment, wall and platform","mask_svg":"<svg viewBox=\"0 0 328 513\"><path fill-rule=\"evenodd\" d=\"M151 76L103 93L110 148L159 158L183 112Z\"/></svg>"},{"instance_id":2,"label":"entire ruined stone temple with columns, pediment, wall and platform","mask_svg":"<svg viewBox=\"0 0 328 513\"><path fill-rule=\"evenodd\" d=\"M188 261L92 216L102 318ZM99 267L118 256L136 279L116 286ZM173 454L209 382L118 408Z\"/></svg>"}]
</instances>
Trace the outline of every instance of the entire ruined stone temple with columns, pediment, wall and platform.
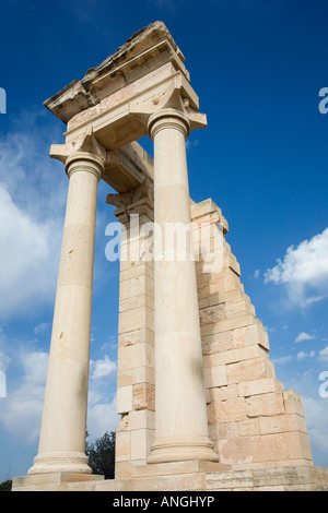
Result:
<instances>
[{"instance_id":1,"label":"entire ruined stone temple with columns, pediment, wall and platform","mask_svg":"<svg viewBox=\"0 0 328 513\"><path fill-rule=\"evenodd\" d=\"M328 470L313 466L301 397L276 379L227 223L211 199L190 199L185 141L207 120L184 62L155 22L45 102L67 124L66 144L50 156L65 164L69 192L39 449L14 490L328 489ZM154 159L137 142L147 134ZM121 420L116 478L106 481L85 456L101 179L117 191L107 203L125 227ZM184 248L163 237L172 225L188 227Z\"/></svg>"}]
</instances>

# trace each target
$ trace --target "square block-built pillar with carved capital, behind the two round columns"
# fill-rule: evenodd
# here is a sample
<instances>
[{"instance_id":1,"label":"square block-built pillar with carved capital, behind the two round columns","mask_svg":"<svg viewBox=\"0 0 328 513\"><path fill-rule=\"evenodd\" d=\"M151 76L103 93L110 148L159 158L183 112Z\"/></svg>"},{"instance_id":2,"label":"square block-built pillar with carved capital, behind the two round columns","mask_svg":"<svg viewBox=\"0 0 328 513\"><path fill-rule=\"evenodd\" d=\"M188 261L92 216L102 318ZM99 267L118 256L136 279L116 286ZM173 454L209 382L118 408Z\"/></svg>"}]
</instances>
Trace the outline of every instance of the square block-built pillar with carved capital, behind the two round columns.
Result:
<instances>
[{"instance_id":1,"label":"square block-built pillar with carved capital, behind the two round columns","mask_svg":"<svg viewBox=\"0 0 328 513\"><path fill-rule=\"evenodd\" d=\"M141 205L141 208L140 208ZM118 208L126 228L121 241L118 322L116 477L129 465L145 464L154 440L154 263L144 255L148 230L138 237L130 229L130 214L138 213L140 227L152 220L148 202ZM136 206L136 205L134 205ZM147 206L147 208L144 208Z\"/></svg>"}]
</instances>

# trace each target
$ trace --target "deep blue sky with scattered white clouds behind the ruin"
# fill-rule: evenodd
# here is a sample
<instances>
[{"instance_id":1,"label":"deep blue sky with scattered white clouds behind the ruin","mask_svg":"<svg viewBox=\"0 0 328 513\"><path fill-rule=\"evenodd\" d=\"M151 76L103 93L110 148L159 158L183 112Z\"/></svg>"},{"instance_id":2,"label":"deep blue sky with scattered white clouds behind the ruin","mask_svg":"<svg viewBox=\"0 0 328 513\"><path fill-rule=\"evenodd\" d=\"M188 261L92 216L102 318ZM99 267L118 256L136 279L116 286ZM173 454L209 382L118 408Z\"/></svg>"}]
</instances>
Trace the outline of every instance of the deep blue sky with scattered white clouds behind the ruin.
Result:
<instances>
[{"instance_id":1,"label":"deep blue sky with scattered white clouds behind the ruin","mask_svg":"<svg viewBox=\"0 0 328 513\"><path fill-rule=\"evenodd\" d=\"M37 454L66 206L63 167L48 157L65 126L43 102L155 20L185 53L208 116L208 128L189 138L190 194L212 198L227 218L227 241L268 330L277 377L302 394L314 463L328 466L328 386L319 379L328 372L328 115L318 109L328 86L327 14L325 0L3 2L0 482L26 474ZM115 219L108 192L101 182L93 438L117 422L118 264L105 258L105 228Z\"/></svg>"}]
</instances>

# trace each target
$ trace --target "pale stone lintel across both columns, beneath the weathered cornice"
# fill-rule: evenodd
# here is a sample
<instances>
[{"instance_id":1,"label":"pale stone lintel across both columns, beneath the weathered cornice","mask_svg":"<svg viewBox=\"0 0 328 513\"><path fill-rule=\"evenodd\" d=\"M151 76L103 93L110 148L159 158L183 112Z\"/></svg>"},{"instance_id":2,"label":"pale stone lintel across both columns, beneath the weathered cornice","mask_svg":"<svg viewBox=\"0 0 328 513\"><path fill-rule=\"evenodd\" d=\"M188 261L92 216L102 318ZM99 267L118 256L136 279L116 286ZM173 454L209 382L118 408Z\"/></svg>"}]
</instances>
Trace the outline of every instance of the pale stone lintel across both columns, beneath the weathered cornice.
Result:
<instances>
[{"instance_id":1,"label":"pale stone lintel across both columns, beneath the weathered cornice","mask_svg":"<svg viewBox=\"0 0 328 513\"><path fill-rule=\"evenodd\" d=\"M98 105L77 114L68 123L66 141L78 141L87 127L92 126L102 146L118 150L148 135L150 116L163 108L176 107L177 96L177 108L187 114L191 130L206 127L206 116L197 111L199 98L185 75L164 65L156 72L149 73L142 81L137 80L129 86L122 86Z\"/></svg>"}]
</instances>

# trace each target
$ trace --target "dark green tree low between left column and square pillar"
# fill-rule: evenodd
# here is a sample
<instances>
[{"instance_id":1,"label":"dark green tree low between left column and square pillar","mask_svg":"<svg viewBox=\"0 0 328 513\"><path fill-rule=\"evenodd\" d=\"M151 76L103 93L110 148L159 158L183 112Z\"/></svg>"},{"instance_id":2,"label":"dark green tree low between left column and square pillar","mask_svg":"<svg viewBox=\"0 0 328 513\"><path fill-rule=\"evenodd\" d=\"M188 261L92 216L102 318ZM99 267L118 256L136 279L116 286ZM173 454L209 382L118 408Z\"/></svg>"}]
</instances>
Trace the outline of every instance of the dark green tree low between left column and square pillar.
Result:
<instances>
[{"instance_id":1,"label":"dark green tree low between left column and square pillar","mask_svg":"<svg viewBox=\"0 0 328 513\"><path fill-rule=\"evenodd\" d=\"M87 433L86 433L87 437ZM105 432L94 443L86 442L86 456L93 474L105 476L105 479L115 477L115 432Z\"/></svg>"}]
</instances>

